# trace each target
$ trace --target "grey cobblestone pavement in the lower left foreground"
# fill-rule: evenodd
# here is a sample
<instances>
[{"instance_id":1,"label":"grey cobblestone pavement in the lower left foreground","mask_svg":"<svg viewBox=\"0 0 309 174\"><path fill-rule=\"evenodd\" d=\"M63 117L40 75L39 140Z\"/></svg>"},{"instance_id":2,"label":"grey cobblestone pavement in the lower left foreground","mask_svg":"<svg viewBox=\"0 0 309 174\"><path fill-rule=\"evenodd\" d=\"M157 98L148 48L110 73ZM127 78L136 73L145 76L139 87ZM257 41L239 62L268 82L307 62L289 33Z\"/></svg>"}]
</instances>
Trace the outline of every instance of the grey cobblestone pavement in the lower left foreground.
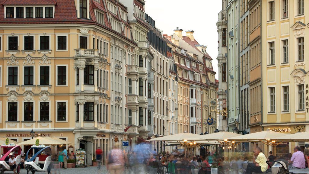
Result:
<instances>
[{"instance_id":1,"label":"grey cobblestone pavement in the lower left foreground","mask_svg":"<svg viewBox=\"0 0 309 174\"><path fill-rule=\"evenodd\" d=\"M54 170L54 169L53 169ZM5 171L5 174L13 174L13 171ZM21 169L19 174L26 174L27 170L26 169ZM52 174L54 172L52 171ZM60 170L61 174L108 174L108 170L106 169L105 165L101 166L101 169L98 170L97 167L89 166L85 168L68 168L68 169L61 169ZM31 172L30 172L31 174ZM47 172L35 172L35 174L47 174ZM58 174L58 171L57 171ZM128 169L125 169L123 174L129 174Z\"/></svg>"}]
</instances>

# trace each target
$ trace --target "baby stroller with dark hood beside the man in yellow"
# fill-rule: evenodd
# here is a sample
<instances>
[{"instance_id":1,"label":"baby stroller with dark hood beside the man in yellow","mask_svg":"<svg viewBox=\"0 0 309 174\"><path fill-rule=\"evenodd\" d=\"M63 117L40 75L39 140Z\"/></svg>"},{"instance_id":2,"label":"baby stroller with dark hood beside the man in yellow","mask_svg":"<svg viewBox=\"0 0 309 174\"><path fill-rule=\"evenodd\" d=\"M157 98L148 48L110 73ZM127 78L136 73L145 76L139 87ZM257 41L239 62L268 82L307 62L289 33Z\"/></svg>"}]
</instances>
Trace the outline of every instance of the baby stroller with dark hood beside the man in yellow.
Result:
<instances>
[{"instance_id":1,"label":"baby stroller with dark hood beside the man in yellow","mask_svg":"<svg viewBox=\"0 0 309 174\"><path fill-rule=\"evenodd\" d=\"M272 174L289 174L288 161L284 159L278 159L277 161L266 161L269 166L268 170L271 170ZM268 172L268 171L266 171Z\"/></svg>"}]
</instances>

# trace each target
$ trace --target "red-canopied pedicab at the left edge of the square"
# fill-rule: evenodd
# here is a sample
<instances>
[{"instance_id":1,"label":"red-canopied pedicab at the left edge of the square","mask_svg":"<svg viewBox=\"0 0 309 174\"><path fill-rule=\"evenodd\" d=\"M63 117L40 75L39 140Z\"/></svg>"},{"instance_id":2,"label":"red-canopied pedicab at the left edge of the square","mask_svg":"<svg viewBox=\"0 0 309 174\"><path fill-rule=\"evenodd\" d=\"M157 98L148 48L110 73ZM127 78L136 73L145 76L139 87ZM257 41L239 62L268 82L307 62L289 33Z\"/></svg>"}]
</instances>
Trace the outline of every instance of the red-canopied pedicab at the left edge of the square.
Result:
<instances>
[{"instance_id":1,"label":"red-canopied pedicab at the left edge of the square","mask_svg":"<svg viewBox=\"0 0 309 174\"><path fill-rule=\"evenodd\" d=\"M12 157L12 155L15 155L16 158L16 172L20 172L20 157L21 157L21 147L18 145L15 145L13 143L11 144L2 144L0 147L0 150L3 150L3 153L0 157L0 174L4 173L4 171L11 171L11 167L9 166L9 159Z\"/></svg>"}]
</instances>

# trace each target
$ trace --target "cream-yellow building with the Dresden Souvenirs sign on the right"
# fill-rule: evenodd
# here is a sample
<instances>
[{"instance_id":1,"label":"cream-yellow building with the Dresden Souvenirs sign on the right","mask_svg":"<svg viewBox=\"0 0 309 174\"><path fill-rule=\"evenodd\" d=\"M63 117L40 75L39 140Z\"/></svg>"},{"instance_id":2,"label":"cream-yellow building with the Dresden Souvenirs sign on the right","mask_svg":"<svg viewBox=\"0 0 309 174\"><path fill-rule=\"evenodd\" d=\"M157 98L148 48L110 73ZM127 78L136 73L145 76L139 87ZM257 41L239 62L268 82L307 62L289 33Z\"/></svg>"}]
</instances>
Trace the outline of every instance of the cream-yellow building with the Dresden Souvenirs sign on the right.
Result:
<instances>
[{"instance_id":1,"label":"cream-yellow building with the Dresden Souvenirs sign on the right","mask_svg":"<svg viewBox=\"0 0 309 174\"><path fill-rule=\"evenodd\" d=\"M305 49L309 42L305 35L309 32L308 6L309 2L304 0L262 1L264 130L286 133L309 130L309 59L306 59L309 53ZM303 148L304 142L298 145ZM289 147L281 147L276 155L289 152Z\"/></svg>"}]
</instances>

